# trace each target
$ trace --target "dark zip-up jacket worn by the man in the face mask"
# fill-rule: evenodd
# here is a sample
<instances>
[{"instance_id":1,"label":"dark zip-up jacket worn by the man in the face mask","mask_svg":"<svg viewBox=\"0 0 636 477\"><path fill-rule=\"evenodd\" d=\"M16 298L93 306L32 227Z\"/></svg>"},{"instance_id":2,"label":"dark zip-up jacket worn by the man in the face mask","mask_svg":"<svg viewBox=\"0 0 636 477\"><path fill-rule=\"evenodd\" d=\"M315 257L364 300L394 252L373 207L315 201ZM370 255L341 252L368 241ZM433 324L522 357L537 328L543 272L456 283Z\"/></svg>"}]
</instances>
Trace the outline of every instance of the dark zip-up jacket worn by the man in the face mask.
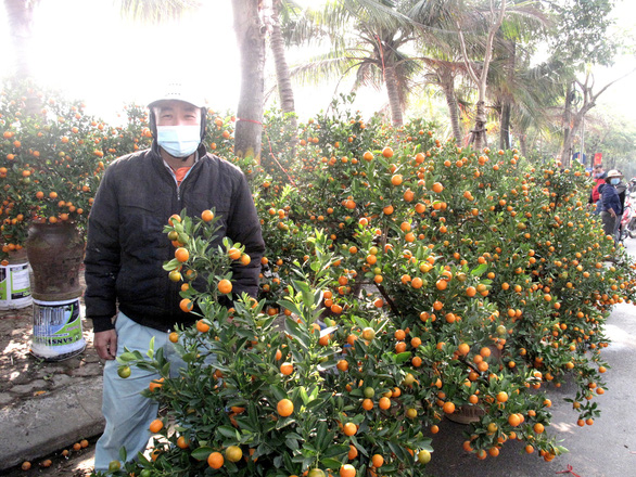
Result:
<instances>
[{"instance_id":1,"label":"dark zip-up jacket worn by the man in the face mask","mask_svg":"<svg viewBox=\"0 0 636 477\"><path fill-rule=\"evenodd\" d=\"M245 176L206 154L203 145L199 156L179 188L156 142L106 169L90 211L85 258L86 317L92 319L96 332L113 327L117 305L133 321L156 330L193 322L194 315L179 309L180 284L162 268L175 254L164 225L183 208L190 217L216 210L221 229L215 248L225 235L245 245L252 261L232 268L232 295L256 296L265 244ZM205 289L204 283L200 278L194 288Z\"/></svg>"}]
</instances>

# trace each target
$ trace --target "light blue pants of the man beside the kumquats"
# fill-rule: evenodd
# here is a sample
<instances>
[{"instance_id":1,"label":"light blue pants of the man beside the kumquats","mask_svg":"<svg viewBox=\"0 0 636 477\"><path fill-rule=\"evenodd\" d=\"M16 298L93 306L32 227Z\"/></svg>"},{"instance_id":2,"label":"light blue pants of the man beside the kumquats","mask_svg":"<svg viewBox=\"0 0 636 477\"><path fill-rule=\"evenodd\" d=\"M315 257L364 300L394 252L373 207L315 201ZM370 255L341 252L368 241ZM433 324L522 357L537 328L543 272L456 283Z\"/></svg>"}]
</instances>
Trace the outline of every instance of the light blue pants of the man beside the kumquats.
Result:
<instances>
[{"instance_id":1,"label":"light blue pants of the man beside the kumquats","mask_svg":"<svg viewBox=\"0 0 636 477\"><path fill-rule=\"evenodd\" d=\"M176 353L168 333L142 326L119 312L115 323L117 331L117 356L124 348L138 350L143 356L154 337L154 350L164 348L164 356L170 362L170 377L178 376L179 369L186 363ZM148 389L152 379L160 375L152 371L131 366L129 377L123 379L117 374L117 361L106 361L104 366L104 395L102 412L106 420L104 434L96 447L96 470L106 470L111 461L119 460L119 449L126 448L127 459L133 460L138 452L143 452L150 439L150 423L156 418L158 403L140 395Z\"/></svg>"}]
</instances>

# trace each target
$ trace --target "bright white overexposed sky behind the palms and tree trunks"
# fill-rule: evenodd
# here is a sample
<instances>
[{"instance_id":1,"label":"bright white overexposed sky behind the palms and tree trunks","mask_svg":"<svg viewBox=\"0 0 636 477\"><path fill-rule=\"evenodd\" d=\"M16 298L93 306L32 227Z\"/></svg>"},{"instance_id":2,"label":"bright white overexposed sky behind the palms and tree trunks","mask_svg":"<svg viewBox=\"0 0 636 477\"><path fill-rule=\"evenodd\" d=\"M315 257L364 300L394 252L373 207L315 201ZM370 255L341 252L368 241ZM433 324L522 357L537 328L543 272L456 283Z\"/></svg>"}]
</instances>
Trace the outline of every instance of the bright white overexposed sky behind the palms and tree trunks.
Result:
<instances>
[{"instance_id":1,"label":"bright white overexposed sky behind the palms and tree trunks","mask_svg":"<svg viewBox=\"0 0 636 477\"><path fill-rule=\"evenodd\" d=\"M122 20L113 0L40 0L34 25L34 74L40 83L84 100L90 114L104 119L113 119L130 102L147 104L160 94L162 85L181 75L201 90L213 109L236 111L240 70L231 0L203 3L202 10L181 22L158 27ZM622 28L636 34L636 2L622 0L616 15ZM1 7L0 52L3 77L12 56ZM634 66L632 57L610 70L597 70L597 85ZM635 83L636 74L619 81L600 96L600 103L636 121ZM301 118L326 109L333 90L333 85L295 87ZM366 91L358 94L354 107L371 114L384 101L383 93Z\"/></svg>"}]
</instances>

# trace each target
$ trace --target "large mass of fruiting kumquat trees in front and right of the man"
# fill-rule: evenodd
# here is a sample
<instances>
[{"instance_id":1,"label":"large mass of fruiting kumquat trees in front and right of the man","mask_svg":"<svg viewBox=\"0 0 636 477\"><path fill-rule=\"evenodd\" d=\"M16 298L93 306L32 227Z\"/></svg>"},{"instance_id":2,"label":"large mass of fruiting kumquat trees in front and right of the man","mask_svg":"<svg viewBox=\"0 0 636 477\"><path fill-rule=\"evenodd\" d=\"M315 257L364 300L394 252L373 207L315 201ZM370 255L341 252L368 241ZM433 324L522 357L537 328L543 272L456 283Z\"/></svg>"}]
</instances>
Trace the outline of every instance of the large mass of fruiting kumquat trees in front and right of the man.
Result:
<instances>
[{"instance_id":1,"label":"large mass of fruiting kumquat trees in front and right of the man","mask_svg":"<svg viewBox=\"0 0 636 477\"><path fill-rule=\"evenodd\" d=\"M196 323L170 335L178 377L162 351L119 358L160 373L144 392L164 411L153 451L112 474L424 476L444 418L469 424L478 459L512 440L565 452L546 390L573 383L572 418L594 424L603 325L636 284L587 209L587 173L336 108L298 138L284 173L224 153L262 219L257 300L232 295L231 265L251 258L214 240L214 211L166 225Z\"/></svg>"}]
</instances>

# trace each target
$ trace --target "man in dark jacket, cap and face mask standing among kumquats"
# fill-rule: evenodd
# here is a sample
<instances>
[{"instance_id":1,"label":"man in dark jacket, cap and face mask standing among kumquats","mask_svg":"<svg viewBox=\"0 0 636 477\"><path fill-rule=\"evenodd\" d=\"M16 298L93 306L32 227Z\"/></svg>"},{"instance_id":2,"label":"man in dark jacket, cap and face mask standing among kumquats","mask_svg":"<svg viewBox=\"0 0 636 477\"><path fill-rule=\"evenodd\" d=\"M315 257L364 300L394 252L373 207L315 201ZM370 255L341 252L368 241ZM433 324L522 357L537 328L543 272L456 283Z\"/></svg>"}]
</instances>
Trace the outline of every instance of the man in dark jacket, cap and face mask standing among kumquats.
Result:
<instances>
[{"instance_id":1,"label":"man in dark jacket, cap and face mask standing among kumquats","mask_svg":"<svg viewBox=\"0 0 636 477\"><path fill-rule=\"evenodd\" d=\"M92 319L94 346L105 360L102 410L106 421L96 449L96 470L143 451L149 424L156 418L156 402L140 392L158 376L133 369L130 377L117 375L116 356L124 347L163 346L176 374L181 362L167 339L177 324L191 324L193 315L179 309L179 284L168 279L164 261L174 247L163 228L173 214L186 208L191 217L215 209L220 217L218 238L230 237L245 246L249 266L233 271L233 293L256 296L260 258L265 248L260 223L244 175L226 160L207 154L206 109L188 98L180 85L149 104L154 137L150 150L113 162L96 195L88 225L86 249L86 315ZM204 282L200 278L199 284ZM199 288L198 282L194 287ZM203 286L205 286L203 284ZM202 288L200 288L202 289ZM118 306L118 311L117 311ZM113 323L113 317L117 317Z\"/></svg>"}]
</instances>

